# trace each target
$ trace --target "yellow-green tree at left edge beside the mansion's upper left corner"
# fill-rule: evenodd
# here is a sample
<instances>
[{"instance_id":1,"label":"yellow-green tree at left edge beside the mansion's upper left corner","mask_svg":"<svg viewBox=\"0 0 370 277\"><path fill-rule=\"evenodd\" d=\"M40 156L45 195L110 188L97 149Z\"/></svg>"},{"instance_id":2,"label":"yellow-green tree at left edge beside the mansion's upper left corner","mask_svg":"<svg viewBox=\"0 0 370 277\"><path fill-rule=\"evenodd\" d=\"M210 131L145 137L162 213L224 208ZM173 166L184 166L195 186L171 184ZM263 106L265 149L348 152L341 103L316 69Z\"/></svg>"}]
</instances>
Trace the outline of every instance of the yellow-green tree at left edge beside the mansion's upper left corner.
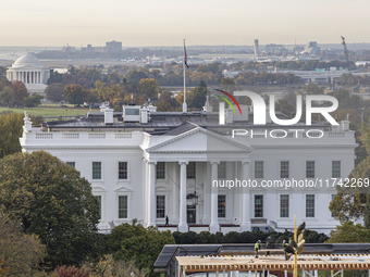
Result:
<instances>
[{"instance_id":1,"label":"yellow-green tree at left edge beside the mansion's upper left corner","mask_svg":"<svg viewBox=\"0 0 370 277\"><path fill-rule=\"evenodd\" d=\"M20 137L22 136L23 114L0 114L0 159L21 152Z\"/></svg>"}]
</instances>

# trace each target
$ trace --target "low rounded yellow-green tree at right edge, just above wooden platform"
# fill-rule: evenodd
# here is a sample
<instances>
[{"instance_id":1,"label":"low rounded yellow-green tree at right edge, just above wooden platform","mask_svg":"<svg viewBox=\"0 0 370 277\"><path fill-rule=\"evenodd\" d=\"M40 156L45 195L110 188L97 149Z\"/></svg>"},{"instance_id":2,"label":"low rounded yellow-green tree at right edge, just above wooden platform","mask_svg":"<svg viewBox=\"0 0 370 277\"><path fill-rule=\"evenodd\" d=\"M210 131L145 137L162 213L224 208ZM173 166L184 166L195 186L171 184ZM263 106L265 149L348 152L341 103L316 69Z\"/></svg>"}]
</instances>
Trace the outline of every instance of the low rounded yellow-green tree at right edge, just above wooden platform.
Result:
<instances>
[{"instance_id":1,"label":"low rounded yellow-green tree at right edge, just above wooden platform","mask_svg":"<svg viewBox=\"0 0 370 277\"><path fill-rule=\"evenodd\" d=\"M370 230L362 225L355 225L353 222L346 222L337 226L330 232L330 239L326 242L369 242Z\"/></svg>"}]
</instances>

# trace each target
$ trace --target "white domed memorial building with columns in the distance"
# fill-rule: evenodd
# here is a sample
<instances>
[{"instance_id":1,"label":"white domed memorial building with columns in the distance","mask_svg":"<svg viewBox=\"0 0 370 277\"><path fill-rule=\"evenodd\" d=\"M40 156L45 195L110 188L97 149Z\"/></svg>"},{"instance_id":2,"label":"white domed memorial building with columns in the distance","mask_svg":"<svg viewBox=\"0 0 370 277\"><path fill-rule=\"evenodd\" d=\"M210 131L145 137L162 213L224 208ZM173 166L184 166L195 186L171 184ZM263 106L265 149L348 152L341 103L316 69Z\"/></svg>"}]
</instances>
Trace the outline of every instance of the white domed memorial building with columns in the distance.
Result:
<instances>
[{"instance_id":1,"label":"white domed memorial building with columns in the distance","mask_svg":"<svg viewBox=\"0 0 370 277\"><path fill-rule=\"evenodd\" d=\"M10 81L22 81L29 93L44 95L49 77L50 70L30 53L18 58L7 71L7 78Z\"/></svg>"}]
</instances>

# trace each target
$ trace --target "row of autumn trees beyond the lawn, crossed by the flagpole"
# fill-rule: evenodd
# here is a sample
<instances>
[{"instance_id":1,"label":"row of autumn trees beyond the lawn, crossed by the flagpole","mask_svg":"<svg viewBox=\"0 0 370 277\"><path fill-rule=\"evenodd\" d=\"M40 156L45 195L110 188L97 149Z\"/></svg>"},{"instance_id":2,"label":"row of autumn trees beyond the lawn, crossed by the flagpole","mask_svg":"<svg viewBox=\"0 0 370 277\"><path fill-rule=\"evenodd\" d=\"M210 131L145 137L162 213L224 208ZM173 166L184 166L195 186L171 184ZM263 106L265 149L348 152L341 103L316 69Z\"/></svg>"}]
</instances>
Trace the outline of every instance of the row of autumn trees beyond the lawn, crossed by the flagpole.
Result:
<instances>
[{"instance_id":1,"label":"row of autumn trees beyond the lawn, crossed by the flagpole","mask_svg":"<svg viewBox=\"0 0 370 277\"><path fill-rule=\"evenodd\" d=\"M183 92L174 97L173 93L161 90L156 79L143 78L137 84L107 84L97 80L92 88L85 88L82 85L67 85L53 83L46 89L47 98L52 102L66 101L71 104L81 105L84 103L94 104L109 101L116 110L121 111L123 104L139 104L150 100L156 103L159 111L177 111L183 103ZM201 109L206 102L207 85L200 81L199 86L186 95L188 108Z\"/></svg>"}]
</instances>

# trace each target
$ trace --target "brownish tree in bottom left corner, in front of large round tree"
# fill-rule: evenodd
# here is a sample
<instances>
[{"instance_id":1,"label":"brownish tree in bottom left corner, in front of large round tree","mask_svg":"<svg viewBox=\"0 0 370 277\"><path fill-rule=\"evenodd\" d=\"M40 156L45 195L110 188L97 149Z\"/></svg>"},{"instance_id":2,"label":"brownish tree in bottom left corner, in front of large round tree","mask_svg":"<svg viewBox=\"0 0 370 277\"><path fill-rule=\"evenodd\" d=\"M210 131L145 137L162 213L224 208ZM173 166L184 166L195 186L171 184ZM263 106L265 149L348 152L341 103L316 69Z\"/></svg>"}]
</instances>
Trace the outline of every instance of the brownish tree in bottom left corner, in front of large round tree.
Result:
<instances>
[{"instance_id":1,"label":"brownish tree in bottom left corner, in front of large round tree","mask_svg":"<svg viewBox=\"0 0 370 277\"><path fill-rule=\"evenodd\" d=\"M45 254L45 245L35 235L23 234L18 221L0 213L0 267L8 268L5 276L30 276Z\"/></svg>"}]
</instances>

